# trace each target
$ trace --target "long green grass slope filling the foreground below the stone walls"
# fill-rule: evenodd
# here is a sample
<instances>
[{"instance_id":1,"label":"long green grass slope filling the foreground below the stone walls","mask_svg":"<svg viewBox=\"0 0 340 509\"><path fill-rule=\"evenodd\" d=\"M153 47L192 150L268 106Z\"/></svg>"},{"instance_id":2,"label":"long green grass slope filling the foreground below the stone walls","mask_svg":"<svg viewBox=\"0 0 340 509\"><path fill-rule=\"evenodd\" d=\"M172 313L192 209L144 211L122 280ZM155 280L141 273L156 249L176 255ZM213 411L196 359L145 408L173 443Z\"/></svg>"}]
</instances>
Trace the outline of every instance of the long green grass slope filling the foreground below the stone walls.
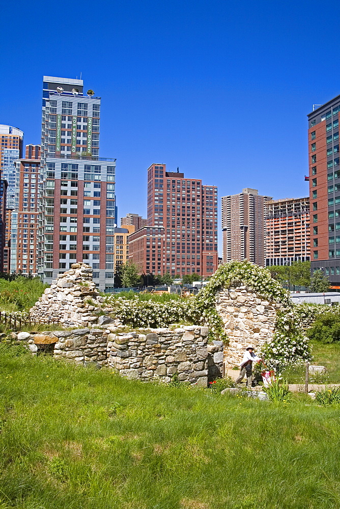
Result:
<instances>
[{"instance_id":1,"label":"long green grass slope filling the foreground below the stone walls","mask_svg":"<svg viewBox=\"0 0 340 509\"><path fill-rule=\"evenodd\" d=\"M0 393L0 509L340 507L337 407L129 381L6 345Z\"/></svg>"}]
</instances>

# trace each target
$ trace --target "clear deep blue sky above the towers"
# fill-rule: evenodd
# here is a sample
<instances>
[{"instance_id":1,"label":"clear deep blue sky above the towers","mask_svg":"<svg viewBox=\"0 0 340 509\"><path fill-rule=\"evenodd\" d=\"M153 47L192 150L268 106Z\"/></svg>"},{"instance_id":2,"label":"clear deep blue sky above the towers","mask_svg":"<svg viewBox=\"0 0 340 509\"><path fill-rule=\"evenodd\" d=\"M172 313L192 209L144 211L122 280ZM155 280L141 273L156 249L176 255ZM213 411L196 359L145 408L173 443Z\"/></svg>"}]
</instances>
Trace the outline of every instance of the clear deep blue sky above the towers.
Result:
<instances>
[{"instance_id":1,"label":"clear deep blue sky above the towers","mask_svg":"<svg viewBox=\"0 0 340 509\"><path fill-rule=\"evenodd\" d=\"M43 75L81 72L102 97L119 217L146 215L153 162L219 196L303 196L306 115L340 93L339 14L320 0L6 2L0 123L40 143Z\"/></svg>"}]
</instances>

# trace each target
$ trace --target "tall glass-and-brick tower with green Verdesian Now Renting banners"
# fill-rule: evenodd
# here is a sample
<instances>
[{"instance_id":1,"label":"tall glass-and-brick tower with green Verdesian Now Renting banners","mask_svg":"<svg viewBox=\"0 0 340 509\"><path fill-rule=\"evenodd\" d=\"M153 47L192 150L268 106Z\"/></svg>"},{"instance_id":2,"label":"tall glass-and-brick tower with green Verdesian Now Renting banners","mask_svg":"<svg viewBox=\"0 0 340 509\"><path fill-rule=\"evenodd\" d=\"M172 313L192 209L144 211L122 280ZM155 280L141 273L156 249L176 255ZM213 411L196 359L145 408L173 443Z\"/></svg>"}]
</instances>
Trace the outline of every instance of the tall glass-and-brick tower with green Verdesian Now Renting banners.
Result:
<instances>
[{"instance_id":1,"label":"tall glass-and-brick tower with green Verdesian Now Renting banners","mask_svg":"<svg viewBox=\"0 0 340 509\"><path fill-rule=\"evenodd\" d=\"M81 79L44 76L38 270L48 283L84 261L100 290L110 286L116 159L99 157L100 102Z\"/></svg>"}]
</instances>

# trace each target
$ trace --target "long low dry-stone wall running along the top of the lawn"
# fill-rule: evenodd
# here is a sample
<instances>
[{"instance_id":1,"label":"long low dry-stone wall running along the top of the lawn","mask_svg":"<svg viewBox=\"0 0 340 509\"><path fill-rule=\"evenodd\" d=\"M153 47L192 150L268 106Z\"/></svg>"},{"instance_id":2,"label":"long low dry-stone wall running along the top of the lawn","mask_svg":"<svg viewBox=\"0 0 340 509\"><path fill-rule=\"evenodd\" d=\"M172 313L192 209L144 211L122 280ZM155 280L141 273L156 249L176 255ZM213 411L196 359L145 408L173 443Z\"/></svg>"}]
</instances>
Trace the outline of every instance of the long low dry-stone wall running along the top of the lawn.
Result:
<instances>
[{"instance_id":1,"label":"long low dry-stone wall running along the top of the lawn","mask_svg":"<svg viewBox=\"0 0 340 509\"><path fill-rule=\"evenodd\" d=\"M180 381L206 387L221 376L223 364L222 342L208 345L207 335L207 327L196 325L140 333L117 332L116 325L106 323L91 329L19 332L16 340L34 355L50 346L56 359L108 366L128 378L169 382L178 373Z\"/></svg>"}]
</instances>

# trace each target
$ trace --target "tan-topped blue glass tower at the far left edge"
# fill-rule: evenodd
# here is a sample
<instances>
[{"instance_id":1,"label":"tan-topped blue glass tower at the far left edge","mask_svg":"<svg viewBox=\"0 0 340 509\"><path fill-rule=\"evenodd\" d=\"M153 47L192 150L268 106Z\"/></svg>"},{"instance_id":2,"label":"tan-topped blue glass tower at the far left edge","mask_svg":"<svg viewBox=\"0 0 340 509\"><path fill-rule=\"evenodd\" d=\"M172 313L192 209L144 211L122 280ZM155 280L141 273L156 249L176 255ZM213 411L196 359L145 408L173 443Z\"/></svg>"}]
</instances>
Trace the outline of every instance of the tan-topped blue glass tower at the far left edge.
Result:
<instances>
[{"instance_id":1,"label":"tan-topped blue glass tower at the far left edge","mask_svg":"<svg viewBox=\"0 0 340 509\"><path fill-rule=\"evenodd\" d=\"M22 157L23 132L16 127L0 124L0 178L7 180L7 208L15 207L15 163Z\"/></svg>"}]
</instances>

